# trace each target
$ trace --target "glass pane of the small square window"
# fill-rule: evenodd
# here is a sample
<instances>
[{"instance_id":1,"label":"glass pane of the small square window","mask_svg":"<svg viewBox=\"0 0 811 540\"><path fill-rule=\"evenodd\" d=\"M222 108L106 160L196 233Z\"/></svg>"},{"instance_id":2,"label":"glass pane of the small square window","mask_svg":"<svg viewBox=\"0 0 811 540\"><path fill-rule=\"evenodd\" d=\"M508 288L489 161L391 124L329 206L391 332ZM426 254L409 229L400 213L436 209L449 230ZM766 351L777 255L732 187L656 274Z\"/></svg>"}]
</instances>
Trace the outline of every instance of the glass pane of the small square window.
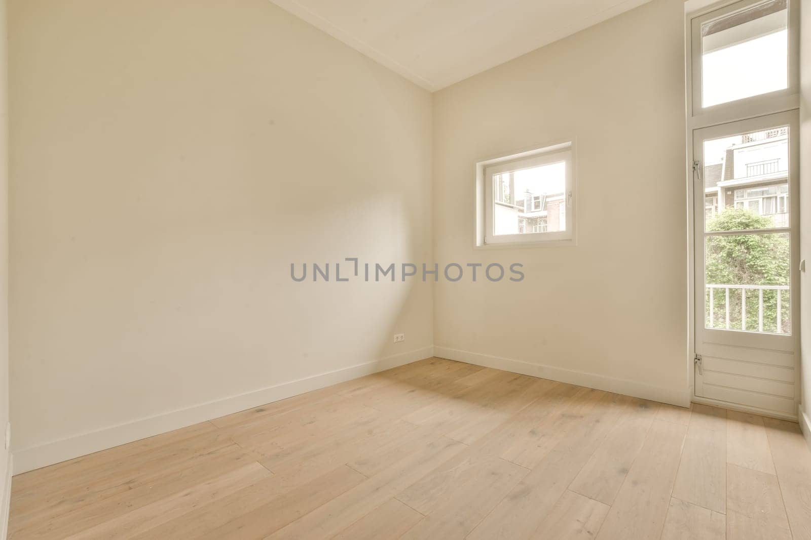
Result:
<instances>
[{"instance_id":1,"label":"glass pane of the small square window","mask_svg":"<svg viewBox=\"0 0 811 540\"><path fill-rule=\"evenodd\" d=\"M493 189L493 234L566 230L564 161L493 175Z\"/></svg>"}]
</instances>

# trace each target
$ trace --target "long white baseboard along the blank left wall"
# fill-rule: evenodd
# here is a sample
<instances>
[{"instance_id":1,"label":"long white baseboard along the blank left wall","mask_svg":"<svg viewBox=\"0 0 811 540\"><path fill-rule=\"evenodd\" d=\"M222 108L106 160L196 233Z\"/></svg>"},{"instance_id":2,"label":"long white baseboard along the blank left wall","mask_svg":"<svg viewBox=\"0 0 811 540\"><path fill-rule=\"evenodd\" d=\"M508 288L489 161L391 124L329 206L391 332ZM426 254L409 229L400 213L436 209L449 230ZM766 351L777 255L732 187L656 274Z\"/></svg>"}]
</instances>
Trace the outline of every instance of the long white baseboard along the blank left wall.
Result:
<instances>
[{"instance_id":1,"label":"long white baseboard along the blank left wall","mask_svg":"<svg viewBox=\"0 0 811 540\"><path fill-rule=\"evenodd\" d=\"M364 364L357 364L349 368L337 369L333 372L290 381L268 388L242 393L230 398L223 398L212 402L201 403L186 409L173 410L161 415L122 423L117 426L82 433L62 440L54 440L45 444L38 444L14 452L14 474L27 472L67 461L74 457L84 456L88 453L98 452L130 443L134 440L145 439L161 433L170 432L181 427L191 426L195 423L205 422L230 415L240 410L251 409L266 403L277 402L280 399L291 398L300 393L335 385L339 382L350 381L358 377L371 375L386 369L397 368L424 358L433 356L433 347L423 347L414 351L388 356Z\"/></svg>"}]
</instances>

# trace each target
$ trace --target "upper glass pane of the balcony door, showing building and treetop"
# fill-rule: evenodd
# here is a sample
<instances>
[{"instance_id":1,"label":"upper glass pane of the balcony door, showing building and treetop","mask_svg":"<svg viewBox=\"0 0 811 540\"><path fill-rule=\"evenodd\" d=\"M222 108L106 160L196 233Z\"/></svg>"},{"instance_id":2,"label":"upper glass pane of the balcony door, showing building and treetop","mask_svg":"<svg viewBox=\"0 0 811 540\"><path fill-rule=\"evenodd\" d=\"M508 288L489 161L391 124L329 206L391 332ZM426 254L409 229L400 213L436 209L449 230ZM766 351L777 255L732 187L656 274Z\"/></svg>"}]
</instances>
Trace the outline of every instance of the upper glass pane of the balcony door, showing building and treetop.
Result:
<instances>
[{"instance_id":1,"label":"upper glass pane of the balcony door, showing building and treetop","mask_svg":"<svg viewBox=\"0 0 811 540\"><path fill-rule=\"evenodd\" d=\"M780 126L704 141L705 231L788 227L788 138Z\"/></svg>"}]
</instances>

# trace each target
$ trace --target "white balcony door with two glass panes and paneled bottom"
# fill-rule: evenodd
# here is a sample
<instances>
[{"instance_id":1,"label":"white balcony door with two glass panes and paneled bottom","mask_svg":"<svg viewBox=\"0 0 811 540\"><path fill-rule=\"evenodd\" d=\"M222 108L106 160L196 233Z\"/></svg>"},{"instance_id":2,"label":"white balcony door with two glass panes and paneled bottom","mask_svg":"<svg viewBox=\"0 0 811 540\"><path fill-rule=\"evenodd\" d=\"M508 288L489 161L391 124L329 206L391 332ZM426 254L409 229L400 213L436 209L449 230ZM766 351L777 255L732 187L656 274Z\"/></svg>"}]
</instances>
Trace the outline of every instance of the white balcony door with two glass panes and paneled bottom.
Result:
<instances>
[{"instance_id":1,"label":"white balcony door with two glass panes and paneled bottom","mask_svg":"<svg viewBox=\"0 0 811 540\"><path fill-rule=\"evenodd\" d=\"M693 131L695 395L796 417L796 110Z\"/></svg>"}]
</instances>

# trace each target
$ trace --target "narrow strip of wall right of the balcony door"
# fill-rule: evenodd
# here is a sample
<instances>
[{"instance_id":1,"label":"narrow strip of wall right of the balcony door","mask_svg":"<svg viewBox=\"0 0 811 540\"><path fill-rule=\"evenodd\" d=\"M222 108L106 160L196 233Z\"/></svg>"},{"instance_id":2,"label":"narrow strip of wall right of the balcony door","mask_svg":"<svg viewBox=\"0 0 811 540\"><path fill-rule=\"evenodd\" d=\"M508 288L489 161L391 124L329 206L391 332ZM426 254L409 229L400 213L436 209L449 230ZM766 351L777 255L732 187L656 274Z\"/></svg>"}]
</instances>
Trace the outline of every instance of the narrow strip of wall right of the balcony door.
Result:
<instances>
[{"instance_id":1,"label":"narrow strip of wall right of the balcony door","mask_svg":"<svg viewBox=\"0 0 811 540\"><path fill-rule=\"evenodd\" d=\"M811 446L811 0L800 5L800 427Z\"/></svg>"}]
</instances>

